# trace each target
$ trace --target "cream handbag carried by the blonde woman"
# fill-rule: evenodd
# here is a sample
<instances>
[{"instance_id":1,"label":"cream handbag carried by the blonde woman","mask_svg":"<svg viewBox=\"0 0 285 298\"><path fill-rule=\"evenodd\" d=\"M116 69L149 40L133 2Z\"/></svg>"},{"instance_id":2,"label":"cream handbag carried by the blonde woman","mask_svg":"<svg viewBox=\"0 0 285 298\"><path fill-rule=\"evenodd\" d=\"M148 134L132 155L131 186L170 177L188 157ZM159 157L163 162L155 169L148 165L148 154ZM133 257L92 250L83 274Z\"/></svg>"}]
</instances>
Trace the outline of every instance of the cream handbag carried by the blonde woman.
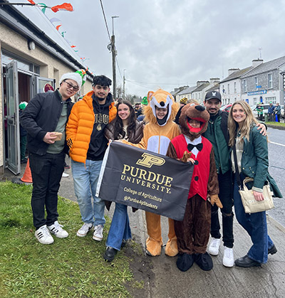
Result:
<instances>
[{"instance_id":1,"label":"cream handbag carried by the blonde woman","mask_svg":"<svg viewBox=\"0 0 285 298\"><path fill-rule=\"evenodd\" d=\"M274 208L273 192L270 190L269 183L263 187L264 201L256 201L252 189L249 190L245 183L254 181L254 179L247 177L244 179L244 189L239 190L242 198L242 205L244 206L245 213L257 213Z\"/></svg>"}]
</instances>

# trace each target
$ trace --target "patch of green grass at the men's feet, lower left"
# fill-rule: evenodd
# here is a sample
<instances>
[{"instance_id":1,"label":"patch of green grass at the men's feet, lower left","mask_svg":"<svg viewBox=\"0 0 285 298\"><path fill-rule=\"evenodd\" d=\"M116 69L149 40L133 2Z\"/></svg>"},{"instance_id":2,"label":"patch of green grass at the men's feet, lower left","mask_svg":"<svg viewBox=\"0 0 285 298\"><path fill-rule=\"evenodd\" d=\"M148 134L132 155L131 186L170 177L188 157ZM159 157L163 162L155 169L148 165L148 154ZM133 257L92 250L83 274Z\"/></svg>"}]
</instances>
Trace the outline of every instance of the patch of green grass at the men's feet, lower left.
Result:
<instances>
[{"instance_id":1,"label":"patch of green grass at the men's feet, lower left","mask_svg":"<svg viewBox=\"0 0 285 298\"><path fill-rule=\"evenodd\" d=\"M133 280L129 259L118 252L103 260L110 220L103 241L91 233L78 238L78 205L58 199L59 222L69 236L54 237L52 245L38 243L31 213L31 186L0 183L0 297L130 297L126 289L142 287Z\"/></svg>"}]
</instances>

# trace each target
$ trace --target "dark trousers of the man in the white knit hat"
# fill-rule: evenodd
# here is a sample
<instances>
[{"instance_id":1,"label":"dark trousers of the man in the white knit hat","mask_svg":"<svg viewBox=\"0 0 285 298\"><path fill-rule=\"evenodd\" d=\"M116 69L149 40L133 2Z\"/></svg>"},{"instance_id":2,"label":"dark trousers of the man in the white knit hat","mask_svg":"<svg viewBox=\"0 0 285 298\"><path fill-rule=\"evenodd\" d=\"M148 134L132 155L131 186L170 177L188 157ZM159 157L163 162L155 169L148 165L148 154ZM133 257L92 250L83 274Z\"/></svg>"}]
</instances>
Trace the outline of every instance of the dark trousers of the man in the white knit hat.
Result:
<instances>
[{"instance_id":1,"label":"dark trousers of the man in the white knit hat","mask_svg":"<svg viewBox=\"0 0 285 298\"><path fill-rule=\"evenodd\" d=\"M28 154L33 179L31 208L33 225L52 225L58 219L58 189L64 170L65 153ZM46 207L46 219L45 219Z\"/></svg>"}]
</instances>

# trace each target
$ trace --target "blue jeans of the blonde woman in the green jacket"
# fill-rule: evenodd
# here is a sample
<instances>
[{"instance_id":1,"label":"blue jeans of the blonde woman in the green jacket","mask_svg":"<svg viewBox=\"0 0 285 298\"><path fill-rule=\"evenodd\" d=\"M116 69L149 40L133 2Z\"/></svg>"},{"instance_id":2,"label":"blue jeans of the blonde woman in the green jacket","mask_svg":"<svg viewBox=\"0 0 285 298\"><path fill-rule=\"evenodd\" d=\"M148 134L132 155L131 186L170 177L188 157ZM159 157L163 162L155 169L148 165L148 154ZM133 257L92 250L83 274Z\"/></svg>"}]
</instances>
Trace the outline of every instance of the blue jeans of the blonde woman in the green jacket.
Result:
<instances>
[{"instance_id":1,"label":"blue jeans of the blonde woman in the green jacket","mask_svg":"<svg viewBox=\"0 0 285 298\"><path fill-rule=\"evenodd\" d=\"M244 176L242 176L242 181ZM274 243L267 234L266 212L245 213L242 199L239 195L239 186L234 179L234 210L237 221L247 230L252 238L252 247L247 252L248 257L259 263L266 263L268 258L268 249L272 248Z\"/></svg>"}]
</instances>

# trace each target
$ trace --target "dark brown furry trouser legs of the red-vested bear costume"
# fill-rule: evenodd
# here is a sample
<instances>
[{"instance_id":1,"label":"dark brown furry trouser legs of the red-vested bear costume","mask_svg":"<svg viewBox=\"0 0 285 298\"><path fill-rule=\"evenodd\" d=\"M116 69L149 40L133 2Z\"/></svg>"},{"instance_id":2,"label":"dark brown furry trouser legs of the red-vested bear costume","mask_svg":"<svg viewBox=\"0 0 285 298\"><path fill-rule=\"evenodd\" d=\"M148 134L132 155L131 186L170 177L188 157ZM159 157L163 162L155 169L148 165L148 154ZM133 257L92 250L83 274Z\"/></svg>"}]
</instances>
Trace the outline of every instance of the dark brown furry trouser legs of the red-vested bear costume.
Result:
<instances>
[{"instance_id":1,"label":"dark brown furry trouser legs of the red-vested bear costume","mask_svg":"<svg viewBox=\"0 0 285 298\"><path fill-rule=\"evenodd\" d=\"M204 253L209 241L211 203L199 195L188 198L182 221L174 221L180 253Z\"/></svg>"}]
</instances>

